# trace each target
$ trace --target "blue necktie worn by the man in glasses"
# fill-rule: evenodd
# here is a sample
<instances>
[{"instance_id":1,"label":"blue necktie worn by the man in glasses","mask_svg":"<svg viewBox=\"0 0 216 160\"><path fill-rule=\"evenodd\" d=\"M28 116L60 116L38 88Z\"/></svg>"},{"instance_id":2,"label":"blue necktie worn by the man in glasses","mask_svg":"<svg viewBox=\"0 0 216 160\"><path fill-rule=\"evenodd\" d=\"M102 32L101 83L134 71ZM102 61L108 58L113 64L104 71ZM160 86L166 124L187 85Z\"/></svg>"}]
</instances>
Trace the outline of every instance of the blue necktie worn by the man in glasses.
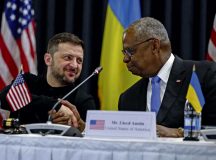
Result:
<instances>
[{"instance_id":1,"label":"blue necktie worn by the man in glasses","mask_svg":"<svg viewBox=\"0 0 216 160\"><path fill-rule=\"evenodd\" d=\"M160 77L155 76L151 80L152 84L152 95L151 95L151 111L158 113L160 108Z\"/></svg>"}]
</instances>

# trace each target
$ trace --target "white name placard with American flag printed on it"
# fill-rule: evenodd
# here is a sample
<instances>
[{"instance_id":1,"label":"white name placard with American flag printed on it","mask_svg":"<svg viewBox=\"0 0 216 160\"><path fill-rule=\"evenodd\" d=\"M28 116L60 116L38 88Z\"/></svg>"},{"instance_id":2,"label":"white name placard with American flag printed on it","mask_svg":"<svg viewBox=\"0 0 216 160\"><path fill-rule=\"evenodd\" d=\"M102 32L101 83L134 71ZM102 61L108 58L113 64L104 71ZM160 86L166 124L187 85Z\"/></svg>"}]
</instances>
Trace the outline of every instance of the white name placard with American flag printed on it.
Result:
<instances>
[{"instance_id":1,"label":"white name placard with American flag printed on it","mask_svg":"<svg viewBox=\"0 0 216 160\"><path fill-rule=\"evenodd\" d=\"M87 137L156 139L153 112L88 111Z\"/></svg>"}]
</instances>

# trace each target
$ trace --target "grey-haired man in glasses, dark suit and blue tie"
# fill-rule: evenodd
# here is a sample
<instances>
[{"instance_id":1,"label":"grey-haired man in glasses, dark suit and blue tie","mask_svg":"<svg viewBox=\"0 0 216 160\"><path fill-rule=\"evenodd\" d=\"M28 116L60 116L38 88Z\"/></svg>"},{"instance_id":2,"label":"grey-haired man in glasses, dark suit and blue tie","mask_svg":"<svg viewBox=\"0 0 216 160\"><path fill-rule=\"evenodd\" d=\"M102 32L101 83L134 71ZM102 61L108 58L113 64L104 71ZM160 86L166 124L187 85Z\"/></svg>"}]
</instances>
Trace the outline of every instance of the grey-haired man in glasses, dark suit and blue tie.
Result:
<instances>
[{"instance_id":1,"label":"grey-haired man in glasses, dark suit and blue tie","mask_svg":"<svg viewBox=\"0 0 216 160\"><path fill-rule=\"evenodd\" d=\"M216 64L182 60L171 53L166 29L158 20L145 17L123 33L123 62L132 74L142 77L120 95L119 110L156 112L161 137L182 137L184 106L193 65L205 97L202 125L216 125ZM151 105L152 79L159 77L159 105Z\"/></svg>"}]
</instances>

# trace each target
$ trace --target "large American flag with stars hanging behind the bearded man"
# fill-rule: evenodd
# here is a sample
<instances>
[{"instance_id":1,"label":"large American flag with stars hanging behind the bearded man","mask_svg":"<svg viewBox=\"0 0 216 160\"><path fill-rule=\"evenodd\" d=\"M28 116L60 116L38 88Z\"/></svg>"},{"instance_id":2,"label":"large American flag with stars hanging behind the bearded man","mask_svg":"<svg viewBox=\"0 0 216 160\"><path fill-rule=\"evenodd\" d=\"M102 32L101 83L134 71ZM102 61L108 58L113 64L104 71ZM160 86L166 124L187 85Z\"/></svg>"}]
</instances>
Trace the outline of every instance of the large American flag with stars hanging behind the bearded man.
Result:
<instances>
[{"instance_id":1,"label":"large American flag with stars hanging behind the bearded man","mask_svg":"<svg viewBox=\"0 0 216 160\"><path fill-rule=\"evenodd\" d=\"M36 74L34 10L31 0L5 0L0 32L0 90L19 73Z\"/></svg>"}]
</instances>

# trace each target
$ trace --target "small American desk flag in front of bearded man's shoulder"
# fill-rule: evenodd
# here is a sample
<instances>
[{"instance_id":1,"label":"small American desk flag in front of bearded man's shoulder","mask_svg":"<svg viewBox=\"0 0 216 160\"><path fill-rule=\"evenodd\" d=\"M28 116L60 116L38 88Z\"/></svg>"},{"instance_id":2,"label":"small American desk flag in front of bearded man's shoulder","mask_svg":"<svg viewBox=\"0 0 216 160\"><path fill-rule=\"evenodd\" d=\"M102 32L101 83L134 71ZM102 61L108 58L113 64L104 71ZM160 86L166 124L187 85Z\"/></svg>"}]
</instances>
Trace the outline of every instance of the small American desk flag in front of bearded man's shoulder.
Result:
<instances>
[{"instance_id":1,"label":"small American desk flag in front of bearded man's shoulder","mask_svg":"<svg viewBox=\"0 0 216 160\"><path fill-rule=\"evenodd\" d=\"M11 85L11 88L6 95L6 99L12 111L19 110L31 102L31 94L21 73L18 74Z\"/></svg>"}]
</instances>

